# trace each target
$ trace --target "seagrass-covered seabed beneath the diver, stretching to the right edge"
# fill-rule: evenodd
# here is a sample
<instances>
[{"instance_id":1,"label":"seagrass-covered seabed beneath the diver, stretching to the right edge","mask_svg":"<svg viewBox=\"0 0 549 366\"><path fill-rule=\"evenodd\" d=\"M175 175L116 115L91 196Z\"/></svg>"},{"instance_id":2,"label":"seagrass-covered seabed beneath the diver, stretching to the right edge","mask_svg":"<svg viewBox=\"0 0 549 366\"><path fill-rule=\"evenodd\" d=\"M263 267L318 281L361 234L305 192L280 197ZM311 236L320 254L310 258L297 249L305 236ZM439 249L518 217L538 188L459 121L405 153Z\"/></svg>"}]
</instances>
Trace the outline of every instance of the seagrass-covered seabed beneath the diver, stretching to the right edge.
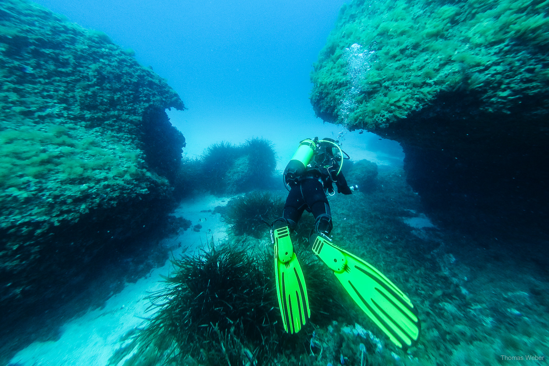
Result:
<instances>
[{"instance_id":1,"label":"seagrass-covered seabed beneath the diver, stretching to the right edge","mask_svg":"<svg viewBox=\"0 0 549 366\"><path fill-rule=\"evenodd\" d=\"M407 352L366 318L297 232L312 315L299 333L285 333L268 232L256 238L233 229L197 256L174 258L166 288L151 295L153 315L121 338L109 364L495 366L501 355L547 354L546 263L533 260L546 248L518 252L524 241L440 228L425 218L403 170L382 170L373 184L365 193L330 198L332 238L376 266L418 308L421 335ZM276 202L281 192L270 194ZM263 213L265 200L255 193L221 215L242 213L243 205ZM311 216L302 217L309 228Z\"/></svg>"}]
</instances>

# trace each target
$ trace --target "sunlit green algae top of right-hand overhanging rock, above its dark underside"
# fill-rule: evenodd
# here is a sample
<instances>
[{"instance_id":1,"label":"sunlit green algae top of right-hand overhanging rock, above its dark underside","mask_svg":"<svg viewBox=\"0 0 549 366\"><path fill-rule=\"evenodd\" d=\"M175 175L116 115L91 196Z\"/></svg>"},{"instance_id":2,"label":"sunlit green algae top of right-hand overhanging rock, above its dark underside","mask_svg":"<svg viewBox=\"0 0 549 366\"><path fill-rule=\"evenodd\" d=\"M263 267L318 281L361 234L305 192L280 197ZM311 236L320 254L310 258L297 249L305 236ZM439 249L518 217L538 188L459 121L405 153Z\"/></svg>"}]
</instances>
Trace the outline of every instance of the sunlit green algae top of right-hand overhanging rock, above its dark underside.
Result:
<instances>
[{"instance_id":1,"label":"sunlit green algae top of right-hand overhanging rock, above its dark underside","mask_svg":"<svg viewBox=\"0 0 549 366\"><path fill-rule=\"evenodd\" d=\"M480 111L508 113L549 93L547 6L538 0L343 5L311 72L313 108L326 121L376 129L460 91L478 95ZM542 100L523 117L547 107Z\"/></svg>"}]
</instances>

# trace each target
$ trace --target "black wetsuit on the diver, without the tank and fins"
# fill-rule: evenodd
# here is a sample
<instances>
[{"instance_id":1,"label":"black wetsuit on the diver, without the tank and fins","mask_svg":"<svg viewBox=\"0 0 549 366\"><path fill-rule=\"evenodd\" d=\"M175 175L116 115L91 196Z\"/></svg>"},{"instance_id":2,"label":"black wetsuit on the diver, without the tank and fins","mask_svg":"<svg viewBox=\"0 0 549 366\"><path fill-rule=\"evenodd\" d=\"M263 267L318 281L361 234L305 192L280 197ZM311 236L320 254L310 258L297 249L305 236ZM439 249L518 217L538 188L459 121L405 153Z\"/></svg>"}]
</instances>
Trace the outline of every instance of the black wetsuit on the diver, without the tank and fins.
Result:
<instances>
[{"instance_id":1,"label":"black wetsuit on the diver, without the tank and fins","mask_svg":"<svg viewBox=\"0 0 549 366\"><path fill-rule=\"evenodd\" d=\"M330 151L327 147L321 153L317 153L312 163L313 167L307 168L296 181L288 182L284 178L292 188L286 199L282 217L273 223L273 228L288 225L290 229L295 229L303 211L306 210L315 216L315 233L328 235L332 231L332 214L326 191L333 193L332 183L336 184L338 193L351 194L352 191L343 173L337 174L339 164ZM284 177L287 176L287 170L288 168L284 171Z\"/></svg>"}]
</instances>

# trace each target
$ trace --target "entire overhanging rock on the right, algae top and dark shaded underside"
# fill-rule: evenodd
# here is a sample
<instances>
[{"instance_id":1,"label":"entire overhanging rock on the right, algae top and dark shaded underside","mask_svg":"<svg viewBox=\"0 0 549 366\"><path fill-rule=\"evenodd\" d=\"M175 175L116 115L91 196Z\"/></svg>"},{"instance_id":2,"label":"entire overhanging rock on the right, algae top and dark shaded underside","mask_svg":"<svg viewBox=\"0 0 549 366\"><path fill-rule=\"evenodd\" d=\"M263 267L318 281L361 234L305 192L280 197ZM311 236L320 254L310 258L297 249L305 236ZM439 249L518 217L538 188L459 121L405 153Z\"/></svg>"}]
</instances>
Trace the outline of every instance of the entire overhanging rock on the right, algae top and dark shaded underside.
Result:
<instances>
[{"instance_id":1,"label":"entire overhanging rock on the right, algae top and dark shaded underside","mask_svg":"<svg viewBox=\"0 0 549 366\"><path fill-rule=\"evenodd\" d=\"M537 0L354 1L315 64L311 103L400 142L434 210L549 217L548 26Z\"/></svg>"}]
</instances>

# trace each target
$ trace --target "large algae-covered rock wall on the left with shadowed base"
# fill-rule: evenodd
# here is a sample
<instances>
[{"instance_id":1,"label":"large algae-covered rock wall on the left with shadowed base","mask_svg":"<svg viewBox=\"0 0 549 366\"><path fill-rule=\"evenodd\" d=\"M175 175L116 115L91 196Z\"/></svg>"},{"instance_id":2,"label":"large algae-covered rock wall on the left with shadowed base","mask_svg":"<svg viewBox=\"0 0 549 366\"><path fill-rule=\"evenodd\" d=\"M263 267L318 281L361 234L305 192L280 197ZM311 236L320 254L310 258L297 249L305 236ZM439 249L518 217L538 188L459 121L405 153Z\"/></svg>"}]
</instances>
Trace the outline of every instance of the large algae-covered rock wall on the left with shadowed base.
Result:
<instances>
[{"instance_id":1,"label":"large algae-covered rock wall on the left with shadowed base","mask_svg":"<svg viewBox=\"0 0 549 366\"><path fill-rule=\"evenodd\" d=\"M0 4L0 306L53 296L172 207L177 93L103 32Z\"/></svg>"}]
</instances>

